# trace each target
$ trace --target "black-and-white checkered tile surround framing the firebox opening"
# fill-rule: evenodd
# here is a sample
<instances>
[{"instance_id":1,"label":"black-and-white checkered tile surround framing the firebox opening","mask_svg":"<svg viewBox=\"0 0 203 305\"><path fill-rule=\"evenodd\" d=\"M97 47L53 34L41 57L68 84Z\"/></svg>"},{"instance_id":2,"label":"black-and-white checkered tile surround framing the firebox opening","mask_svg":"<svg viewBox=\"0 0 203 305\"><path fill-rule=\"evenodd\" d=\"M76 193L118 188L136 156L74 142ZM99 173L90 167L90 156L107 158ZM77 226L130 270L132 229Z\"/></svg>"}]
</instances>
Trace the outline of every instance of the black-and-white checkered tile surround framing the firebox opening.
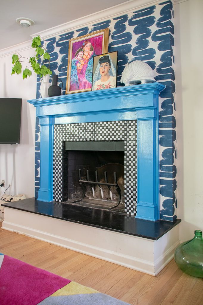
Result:
<instances>
[{"instance_id":1,"label":"black-and-white checkered tile surround framing the firebox opening","mask_svg":"<svg viewBox=\"0 0 203 305\"><path fill-rule=\"evenodd\" d=\"M124 141L125 212L137 212L137 120L54 125L53 192L62 202L63 141Z\"/></svg>"}]
</instances>

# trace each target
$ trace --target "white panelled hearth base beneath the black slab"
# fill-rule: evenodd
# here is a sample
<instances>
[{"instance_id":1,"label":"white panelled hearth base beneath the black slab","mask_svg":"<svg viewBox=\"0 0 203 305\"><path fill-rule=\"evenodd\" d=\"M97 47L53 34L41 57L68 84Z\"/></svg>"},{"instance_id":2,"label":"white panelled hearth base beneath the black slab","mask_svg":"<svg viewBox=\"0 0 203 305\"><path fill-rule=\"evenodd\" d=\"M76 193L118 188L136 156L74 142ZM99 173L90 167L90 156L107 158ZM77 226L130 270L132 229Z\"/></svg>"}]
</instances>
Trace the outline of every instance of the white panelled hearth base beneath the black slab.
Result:
<instances>
[{"instance_id":1,"label":"white panelled hearth base beneath the black slab","mask_svg":"<svg viewBox=\"0 0 203 305\"><path fill-rule=\"evenodd\" d=\"M176 225L158 240L141 238L5 207L5 230L156 276L179 245Z\"/></svg>"}]
</instances>

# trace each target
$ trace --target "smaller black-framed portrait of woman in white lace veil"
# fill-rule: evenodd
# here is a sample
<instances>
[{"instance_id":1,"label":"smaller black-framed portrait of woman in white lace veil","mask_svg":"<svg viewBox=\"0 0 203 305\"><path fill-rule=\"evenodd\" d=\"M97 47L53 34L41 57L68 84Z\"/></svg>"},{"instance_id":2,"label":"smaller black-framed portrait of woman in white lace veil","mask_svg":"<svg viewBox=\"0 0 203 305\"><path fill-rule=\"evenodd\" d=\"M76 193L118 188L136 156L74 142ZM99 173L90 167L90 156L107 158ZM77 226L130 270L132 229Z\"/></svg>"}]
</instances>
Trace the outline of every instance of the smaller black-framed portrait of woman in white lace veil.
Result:
<instances>
[{"instance_id":1,"label":"smaller black-framed portrait of woman in white lace veil","mask_svg":"<svg viewBox=\"0 0 203 305\"><path fill-rule=\"evenodd\" d=\"M94 56L92 91L116 88L118 51Z\"/></svg>"}]
</instances>

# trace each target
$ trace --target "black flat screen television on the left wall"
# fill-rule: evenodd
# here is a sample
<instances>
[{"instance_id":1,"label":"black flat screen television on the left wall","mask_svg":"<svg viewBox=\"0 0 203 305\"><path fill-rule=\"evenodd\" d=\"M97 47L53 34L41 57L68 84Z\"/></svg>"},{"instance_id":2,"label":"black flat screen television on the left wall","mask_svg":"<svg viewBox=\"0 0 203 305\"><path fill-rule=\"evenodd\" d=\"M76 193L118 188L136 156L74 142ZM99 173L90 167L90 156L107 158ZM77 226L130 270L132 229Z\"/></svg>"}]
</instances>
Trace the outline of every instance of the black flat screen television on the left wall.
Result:
<instances>
[{"instance_id":1,"label":"black flat screen television on the left wall","mask_svg":"<svg viewBox=\"0 0 203 305\"><path fill-rule=\"evenodd\" d=\"M22 99L0 98L0 144L20 144Z\"/></svg>"}]
</instances>

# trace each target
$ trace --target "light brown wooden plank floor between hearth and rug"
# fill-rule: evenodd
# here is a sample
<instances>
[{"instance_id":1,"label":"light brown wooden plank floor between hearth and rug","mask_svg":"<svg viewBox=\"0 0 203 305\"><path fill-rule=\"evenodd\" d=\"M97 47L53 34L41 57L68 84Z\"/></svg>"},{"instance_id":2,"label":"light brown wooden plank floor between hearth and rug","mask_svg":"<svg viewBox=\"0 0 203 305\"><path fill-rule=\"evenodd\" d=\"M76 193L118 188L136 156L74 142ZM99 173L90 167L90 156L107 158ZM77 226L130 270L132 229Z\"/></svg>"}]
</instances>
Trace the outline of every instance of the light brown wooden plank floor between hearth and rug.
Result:
<instances>
[{"instance_id":1,"label":"light brown wooden plank floor between hearth and rug","mask_svg":"<svg viewBox=\"0 0 203 305\"><path fill-rule=\"evenodd\" d=\"M203 279L172 260L156 277L3 230L0 252L136 305L203 305ZM96 305L96 304L95 304Z\"/></svg>"}]
</instances>

